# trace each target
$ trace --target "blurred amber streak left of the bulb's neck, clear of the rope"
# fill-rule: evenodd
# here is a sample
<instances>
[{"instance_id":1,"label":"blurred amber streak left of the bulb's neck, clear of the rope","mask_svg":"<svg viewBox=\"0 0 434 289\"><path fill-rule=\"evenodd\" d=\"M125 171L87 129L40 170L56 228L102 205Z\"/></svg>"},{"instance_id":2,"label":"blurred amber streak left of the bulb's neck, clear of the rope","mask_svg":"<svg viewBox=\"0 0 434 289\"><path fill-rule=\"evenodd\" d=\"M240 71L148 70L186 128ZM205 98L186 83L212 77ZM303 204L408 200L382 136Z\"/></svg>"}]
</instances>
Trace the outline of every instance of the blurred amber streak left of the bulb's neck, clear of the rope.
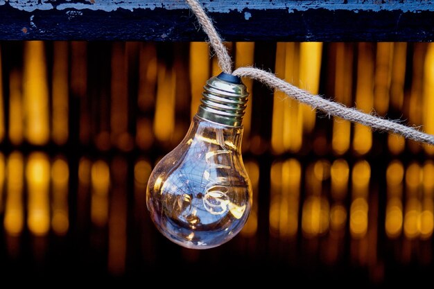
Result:
<instances>
[{"instance_id":1,"label":"blurred amber streak left of the bulb's neck, clear of the rope","mask_svg":"<svg viewBox=\"0 0 434 289\"><path fill-rule=\"evenodd\" d=\"M157 85L154 134L159 141L167 142L175 129L175 72L159 66Z\"/></svg>"}]
</instances>

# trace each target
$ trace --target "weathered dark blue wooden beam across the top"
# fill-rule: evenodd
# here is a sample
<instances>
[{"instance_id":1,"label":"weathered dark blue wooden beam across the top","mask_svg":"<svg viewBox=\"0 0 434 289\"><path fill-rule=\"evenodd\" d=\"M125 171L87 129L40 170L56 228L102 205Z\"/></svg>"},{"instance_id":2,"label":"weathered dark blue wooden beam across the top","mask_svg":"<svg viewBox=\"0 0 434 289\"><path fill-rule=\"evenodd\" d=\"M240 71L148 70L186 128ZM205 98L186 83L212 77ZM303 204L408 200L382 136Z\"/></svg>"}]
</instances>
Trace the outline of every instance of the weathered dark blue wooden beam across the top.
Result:
<instances>
[{"instance_id":1,"label":"weathered dark blue wooden beam across the top","mask_svg":"<svg viewBox=\"0 0 434 289\"><path fill-rule=\"evenodd\" d=\"M426 0L202 0L225 41L434 40ZM182 0L0 0L0 40L205 41Z\"/></svg>"}]
</instances>

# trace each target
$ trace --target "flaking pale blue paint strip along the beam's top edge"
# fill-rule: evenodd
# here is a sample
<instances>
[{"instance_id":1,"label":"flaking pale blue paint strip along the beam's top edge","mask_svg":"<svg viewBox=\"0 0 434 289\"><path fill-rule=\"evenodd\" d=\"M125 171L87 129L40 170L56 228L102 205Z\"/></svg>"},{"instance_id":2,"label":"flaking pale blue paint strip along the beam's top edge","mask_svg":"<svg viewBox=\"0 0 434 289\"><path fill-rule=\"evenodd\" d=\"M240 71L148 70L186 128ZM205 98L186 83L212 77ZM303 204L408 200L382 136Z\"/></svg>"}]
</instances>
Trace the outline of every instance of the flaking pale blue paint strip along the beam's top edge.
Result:
<instances>
[{"instance_id":1,"label":"flaking pale blue paint strip along the beam's top edge","mask_svg":"<svg viewBox=\"0 0 434 289\"><path fill-rule=\"evenodd\" d=\"M103 10L112 12L118 9L150 9L164 8L167 10L188 9L189 6L184 1L166 0L10 0L10 6L19 10L32 12L34 10ZM248 10L287 10L288 13L297 11L306 11L310 9L327 9L327 10L360 10L360 11L380 11L380 10L401 10L402 12L419 12L421 9L434 11L434 5L431 1L410 1L410 0L388 0L381 3L378 0L347 0L342 1L286 1L286 0L250 0L250 1L200 1L209 12L227 13L231 11L243 12ZM5 5L6 1L0 0L0 6Z\"/></svg>"}]
</instances>

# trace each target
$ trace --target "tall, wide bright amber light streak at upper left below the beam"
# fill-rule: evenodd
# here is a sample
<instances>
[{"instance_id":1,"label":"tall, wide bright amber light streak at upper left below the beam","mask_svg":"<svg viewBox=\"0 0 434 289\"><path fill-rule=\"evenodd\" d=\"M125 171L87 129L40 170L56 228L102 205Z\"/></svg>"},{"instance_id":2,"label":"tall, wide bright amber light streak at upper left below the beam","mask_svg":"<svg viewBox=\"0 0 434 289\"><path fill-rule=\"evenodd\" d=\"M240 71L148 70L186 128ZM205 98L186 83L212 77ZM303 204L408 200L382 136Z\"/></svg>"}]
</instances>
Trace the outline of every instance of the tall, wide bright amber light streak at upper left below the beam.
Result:
<instances>
[{"instance_id":1,"label":"tall, wide bright amber light streak at upper left below the beam","mask_svg":"<svg viewBox=\"0 0 434 289\"><path fill-rule=\"evenodd\" d=\"M25 136L29 143L43 145L49 141L49 89L44 42L24 42L23 71Z\"/></svg>"}]
</instances>

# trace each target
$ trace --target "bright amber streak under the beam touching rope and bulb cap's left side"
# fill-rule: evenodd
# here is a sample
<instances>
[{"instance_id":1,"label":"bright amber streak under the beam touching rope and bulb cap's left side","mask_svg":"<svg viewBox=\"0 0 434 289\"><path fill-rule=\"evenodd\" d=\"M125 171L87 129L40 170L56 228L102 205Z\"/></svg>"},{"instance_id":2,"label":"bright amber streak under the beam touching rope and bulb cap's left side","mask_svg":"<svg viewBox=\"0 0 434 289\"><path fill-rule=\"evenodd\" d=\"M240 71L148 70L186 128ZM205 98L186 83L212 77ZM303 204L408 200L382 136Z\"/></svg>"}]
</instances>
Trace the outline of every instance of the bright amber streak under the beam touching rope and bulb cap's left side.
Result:
<instances>
[{"instance_id":1,"label":"bright amber streak under the beam touching rope and bulb cap's left side","mask_svg":"<svg viewBox=\"0 0 434 289\"><path fill-rule=\"evenodd\" d=\"M198 112L205 82L209 79L209 46L207 42L190 43L191 117Z\"/></svg>"}]
</instances>

